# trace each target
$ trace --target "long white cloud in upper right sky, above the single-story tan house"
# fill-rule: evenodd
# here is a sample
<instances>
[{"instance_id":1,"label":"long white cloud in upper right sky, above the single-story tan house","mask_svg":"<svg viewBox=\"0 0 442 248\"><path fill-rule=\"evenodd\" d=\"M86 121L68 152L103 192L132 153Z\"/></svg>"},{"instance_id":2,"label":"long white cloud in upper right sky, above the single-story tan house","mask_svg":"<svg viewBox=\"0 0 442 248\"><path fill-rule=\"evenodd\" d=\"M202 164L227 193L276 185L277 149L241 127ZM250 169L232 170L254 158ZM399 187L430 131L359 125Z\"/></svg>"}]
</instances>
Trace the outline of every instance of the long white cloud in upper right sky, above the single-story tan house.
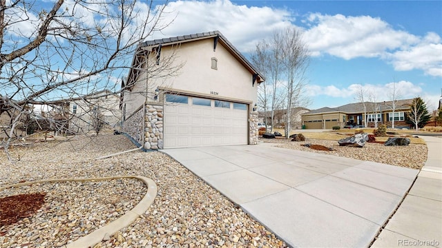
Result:
<instances>
[{"instance_id":1,"label":"long white cloud in upper right sky, above the single-story tan house","mask_svg":"<svg viewBox=\"0 0 442 248\"><path fill-rule=\"evenodd\" d=\"M343 59L374 57L419 41L412 34L394 30L380 18L315 13L307 20L310 28L305 31L305 40L316 54L328 53Z\"/></svg>"}]
</instances>

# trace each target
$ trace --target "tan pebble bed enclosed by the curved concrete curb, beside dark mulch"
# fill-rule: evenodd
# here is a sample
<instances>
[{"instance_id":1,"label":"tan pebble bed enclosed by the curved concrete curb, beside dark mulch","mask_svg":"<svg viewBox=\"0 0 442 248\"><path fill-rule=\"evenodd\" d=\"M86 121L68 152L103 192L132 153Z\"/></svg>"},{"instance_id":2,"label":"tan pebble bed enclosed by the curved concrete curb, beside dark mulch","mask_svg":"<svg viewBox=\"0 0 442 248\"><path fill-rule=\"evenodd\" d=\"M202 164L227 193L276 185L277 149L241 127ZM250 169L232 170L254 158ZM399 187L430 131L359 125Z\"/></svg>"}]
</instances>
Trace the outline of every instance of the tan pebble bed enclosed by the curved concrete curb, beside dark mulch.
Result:
<instances>
[{"instance_id":1,"label":"tan pebble bed enclosed by the curved concrete curb, beside dark mulch","mask_svg":"<svg viewBox=\"0 0 442 248\"><path fill-rule=\"evenodd\" d=\"M5 189L0 192L0 197L44 192L46 204L35 216L0 227L0 247L66 245L131 210L146 191L142 181L132 178L35 183Z\"/></svg>"}]
</instances>

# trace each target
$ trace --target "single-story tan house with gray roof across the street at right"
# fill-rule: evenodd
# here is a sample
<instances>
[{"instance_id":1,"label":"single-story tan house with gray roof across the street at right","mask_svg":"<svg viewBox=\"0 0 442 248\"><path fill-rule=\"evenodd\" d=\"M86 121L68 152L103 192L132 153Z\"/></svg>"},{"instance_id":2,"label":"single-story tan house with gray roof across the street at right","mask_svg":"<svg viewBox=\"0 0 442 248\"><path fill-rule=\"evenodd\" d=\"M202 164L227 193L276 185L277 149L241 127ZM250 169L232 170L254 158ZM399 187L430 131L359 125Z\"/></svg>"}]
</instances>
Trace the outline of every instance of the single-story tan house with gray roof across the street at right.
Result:
<instances>
[{"instance_id":1,"label":"single-story tan house with gray roof across the street at right","mask_svg":"<svg viewBox=\"0 0 442 248\"><path fill-rule=\"evenodd\" d=\"M318 110L311 110L306 114L302 114L302 123L307 129L332 129L334 126L343 128L346 125L377 127L379 124L392 127L394 118L394 127L410 127L409 124L405 123L405 115L410 111L412 101L413 99L397 100L394 116L392 101L365 102L367 124L365 124L363 103L349 103L340 107L322 107Z\"/></svg>"}]
</instances>

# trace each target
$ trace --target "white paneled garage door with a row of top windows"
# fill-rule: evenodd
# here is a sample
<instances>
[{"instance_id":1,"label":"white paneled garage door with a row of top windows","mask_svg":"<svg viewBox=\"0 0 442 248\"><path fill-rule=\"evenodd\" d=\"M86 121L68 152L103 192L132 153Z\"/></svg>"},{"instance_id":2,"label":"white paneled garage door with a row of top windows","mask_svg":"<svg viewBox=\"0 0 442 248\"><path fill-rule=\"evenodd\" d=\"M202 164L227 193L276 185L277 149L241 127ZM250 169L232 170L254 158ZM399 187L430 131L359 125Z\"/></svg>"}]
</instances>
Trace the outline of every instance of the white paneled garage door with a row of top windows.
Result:
<instances>
[{"instance_id":1,"label":"white paneled garage door with a row of top windows","mask_svg":"<svg viewBox=\"0 0 442 248\"><path fill-rule=\"evenodd\" d=\"M166 94L164 148L247 145L247 105Z\"/></svg>"}]
</instances>

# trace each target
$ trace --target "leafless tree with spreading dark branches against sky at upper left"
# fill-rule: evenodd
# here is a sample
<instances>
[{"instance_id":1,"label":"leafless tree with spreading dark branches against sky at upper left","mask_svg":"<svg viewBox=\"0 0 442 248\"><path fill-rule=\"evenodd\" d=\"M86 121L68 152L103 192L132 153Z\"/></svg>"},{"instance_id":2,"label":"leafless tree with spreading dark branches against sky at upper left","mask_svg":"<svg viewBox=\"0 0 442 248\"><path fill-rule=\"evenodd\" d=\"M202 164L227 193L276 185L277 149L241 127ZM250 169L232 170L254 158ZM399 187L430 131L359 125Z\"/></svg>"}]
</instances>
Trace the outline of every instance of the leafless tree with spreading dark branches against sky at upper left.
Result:
<instances>
[{"instance_id":1,"label":"leafless tree with spreading dark branches against sky at upper left","mask_svg":"<svg viewBox=\"0 0 442 248\"><path fill-rule=\"evenodd\" d=\"M120 80L137 45L168 24L160 23L166 2L153 4L0 0L0 115L32 105L53 109L62 99L69 103L102 90L124 91Z\"/></svg>"}]
</instances>

